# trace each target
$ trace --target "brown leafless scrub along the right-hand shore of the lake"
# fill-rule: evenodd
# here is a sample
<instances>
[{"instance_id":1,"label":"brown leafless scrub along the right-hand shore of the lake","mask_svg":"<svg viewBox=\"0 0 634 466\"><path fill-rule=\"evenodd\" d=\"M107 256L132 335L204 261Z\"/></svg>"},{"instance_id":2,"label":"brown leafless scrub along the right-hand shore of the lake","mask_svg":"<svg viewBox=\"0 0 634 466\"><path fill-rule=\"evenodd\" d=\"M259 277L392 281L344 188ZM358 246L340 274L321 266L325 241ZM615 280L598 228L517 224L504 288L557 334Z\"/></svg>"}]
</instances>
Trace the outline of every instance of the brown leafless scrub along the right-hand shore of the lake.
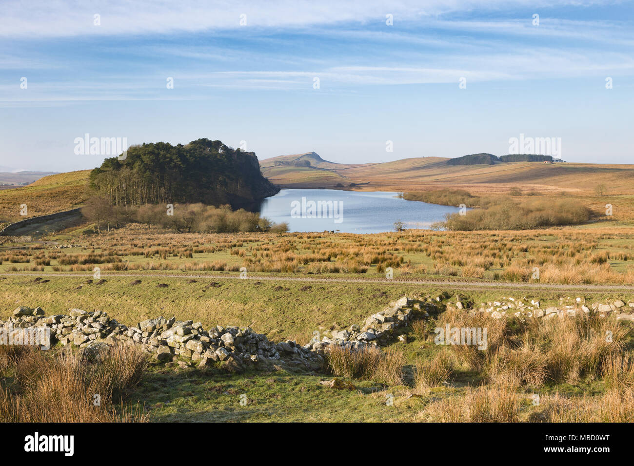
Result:
<instances>
[{"instance_id":1,"label":"brown leafless scrub along the right-hand shore of the lake","mask_svg":"<svg viewBox=\"0 0 634 466\"><path fill-rule=\"evenodd\" d=\"M405 200L430 204L475 207L462 213L447 214L432 230L533 230L535 228L578 225L590 221L592 210L571 199L521 198L521 191L509 195L476 197L464 190L436 190L403 193Z\"/></svg>"}]
</instances>

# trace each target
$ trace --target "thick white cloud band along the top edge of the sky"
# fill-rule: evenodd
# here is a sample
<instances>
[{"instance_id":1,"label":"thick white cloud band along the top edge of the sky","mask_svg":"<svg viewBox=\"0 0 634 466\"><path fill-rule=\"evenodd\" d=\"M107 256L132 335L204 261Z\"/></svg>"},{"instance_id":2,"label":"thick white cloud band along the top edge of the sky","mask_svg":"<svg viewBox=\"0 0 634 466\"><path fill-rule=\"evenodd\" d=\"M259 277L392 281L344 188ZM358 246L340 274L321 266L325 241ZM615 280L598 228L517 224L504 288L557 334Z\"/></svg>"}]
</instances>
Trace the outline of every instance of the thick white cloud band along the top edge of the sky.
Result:
<instances>
[{"instance_id":1,"label":"thick white cloud band along the top edge of the sky","mask_svg":"<svg viewBox=\"0 0 634 466\"><path fill-rule=\"evenodd\" d=\"M2 4L0 36L72 37L115 34L165 34L240 28L240 15L247 15L247 26L256 28L306 27L344 22L384 22L385 15L394 21L415 20L474 9L501 10L531 6L583 6L604 3L592 0L401 0L386 3L378 0L173 0L126 1L75 0L8 0ZM93 25L93 15L100 15L100 25Z\"/></svg>"}]
</instances>

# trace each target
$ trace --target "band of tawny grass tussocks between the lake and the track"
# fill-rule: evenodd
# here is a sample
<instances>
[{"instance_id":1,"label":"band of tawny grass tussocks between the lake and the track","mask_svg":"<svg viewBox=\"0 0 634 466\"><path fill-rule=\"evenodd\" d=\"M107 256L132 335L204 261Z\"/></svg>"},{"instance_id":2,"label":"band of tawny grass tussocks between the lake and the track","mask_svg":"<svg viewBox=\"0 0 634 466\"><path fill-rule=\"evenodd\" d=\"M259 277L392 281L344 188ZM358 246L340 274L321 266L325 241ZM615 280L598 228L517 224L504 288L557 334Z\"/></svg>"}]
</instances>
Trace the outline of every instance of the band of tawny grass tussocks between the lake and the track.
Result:
<instances>
[{"instance_id":1,"label":"band of tawny grass tussocks between the lake and the track","mask_svg":"<svg viewBox=\"0 0 634 466\"><path fill-rule=\"evenodd\" d=\"M634 209L633 209L634 210ZM2 240L0 240L1 242ZM634 283L631 228L552 228L527 231L411 230L350 233L172 233L130 224L100 236L77 238L72 252L30 245L4 246L5 271L104 270L349 273L523 283ZM139 261L139 259L146 261ZM533 278L534 268L540 271Z\"/></svg>"}]
</instances>

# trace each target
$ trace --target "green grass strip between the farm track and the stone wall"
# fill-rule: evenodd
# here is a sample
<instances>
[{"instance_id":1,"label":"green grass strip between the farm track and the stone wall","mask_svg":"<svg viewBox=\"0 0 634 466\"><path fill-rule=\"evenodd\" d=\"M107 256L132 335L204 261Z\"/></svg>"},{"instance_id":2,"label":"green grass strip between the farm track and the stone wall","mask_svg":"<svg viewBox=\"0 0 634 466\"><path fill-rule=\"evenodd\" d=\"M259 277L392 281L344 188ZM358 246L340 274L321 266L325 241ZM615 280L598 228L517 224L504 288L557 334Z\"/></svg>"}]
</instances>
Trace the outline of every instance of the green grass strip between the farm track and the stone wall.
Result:
<instances>
[{"instance_id":1,"label":"green grass strip between the farm track and the stone wall","mask_svg":"<svg viewBox=\"0 0 634 466\"><path fill-rule=\"evenodd\" d=\"M228 274L223 274L227 276ZM237 275L237 273L233 273ZM18 306L41 306L46 314L61 314L78 307L86 311L106 311L126 325L159 315L180 320L200 321L210 325L240 325L266 333L274 340L307 341L314 330L330 327L347 328L362 323L370 314L387 306L389 301L409 294L428 293L432 296L459 294L467 302L499 301L503 296L540 299L541 306L559 304L560 296L587 297L588 301L616 299L634 301L632 292L564 292L564 290L505 289L503 285L475 291L439 286L406 285L403 283L328 283L262 280L219 280L197 278L134 278L101 277L86 284L87 278L48 277L46 283L36 283L37 276L0 278L0 318L6 318ZM219 275L216 275L219 276ZM4 278L4 277L2 277ZM167 283L167 288L158 288ZM81 288L80 288L81 287ZM309 288L305 288L309 287ZM303 290L302 290L303 288ZM564 294L565 293L565 294ZM629 300L629 301L628 301Z\"/></svg>"}]
</instances>

